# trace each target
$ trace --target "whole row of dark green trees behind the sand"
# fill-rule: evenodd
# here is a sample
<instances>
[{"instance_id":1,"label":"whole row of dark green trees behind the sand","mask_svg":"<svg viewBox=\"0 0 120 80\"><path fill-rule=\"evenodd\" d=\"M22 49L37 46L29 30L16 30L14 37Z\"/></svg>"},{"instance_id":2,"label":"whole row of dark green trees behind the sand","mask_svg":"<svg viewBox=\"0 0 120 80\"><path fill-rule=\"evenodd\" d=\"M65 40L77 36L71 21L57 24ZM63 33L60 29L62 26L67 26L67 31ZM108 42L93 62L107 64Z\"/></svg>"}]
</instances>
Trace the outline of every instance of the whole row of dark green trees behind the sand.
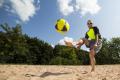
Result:
<instances>
[{"instance_id":1,"label":"whole row of dark green trees behind the sand","mask_svg":"<svg viewBox=\"0 0 120 80\"><path fill-rule=\"evenodd\" d=\"M107 40L96 54L97 64L120 64L120 37ZM88 65L87 51L56 45L22 33L22 26L0 25L0 63L34 65Z\"/></svg>"}]
</instances>

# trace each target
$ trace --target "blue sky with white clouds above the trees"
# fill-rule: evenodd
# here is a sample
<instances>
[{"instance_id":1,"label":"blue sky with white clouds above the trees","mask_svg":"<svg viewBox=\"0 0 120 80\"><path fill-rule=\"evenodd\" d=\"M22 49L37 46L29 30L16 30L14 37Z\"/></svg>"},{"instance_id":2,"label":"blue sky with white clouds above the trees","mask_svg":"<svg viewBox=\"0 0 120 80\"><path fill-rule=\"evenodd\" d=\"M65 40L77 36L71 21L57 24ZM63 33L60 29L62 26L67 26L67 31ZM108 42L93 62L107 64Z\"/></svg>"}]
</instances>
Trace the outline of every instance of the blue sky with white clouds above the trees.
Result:
<instances>
[{"instance_id":1,"label":"blue sky with white clouds above the trees","mask_svg":"<svg viewBox=\"0 0 120 80\"><path fill-rule=\"evenodd\" d=\"M23 33L57 44L64 37L84 37L92 19L103 37L120 36L120 0L0 0L0 24L22 25ZM70 30L61 35L55 22L66 19Z\"/></svg>"}]
</instances>

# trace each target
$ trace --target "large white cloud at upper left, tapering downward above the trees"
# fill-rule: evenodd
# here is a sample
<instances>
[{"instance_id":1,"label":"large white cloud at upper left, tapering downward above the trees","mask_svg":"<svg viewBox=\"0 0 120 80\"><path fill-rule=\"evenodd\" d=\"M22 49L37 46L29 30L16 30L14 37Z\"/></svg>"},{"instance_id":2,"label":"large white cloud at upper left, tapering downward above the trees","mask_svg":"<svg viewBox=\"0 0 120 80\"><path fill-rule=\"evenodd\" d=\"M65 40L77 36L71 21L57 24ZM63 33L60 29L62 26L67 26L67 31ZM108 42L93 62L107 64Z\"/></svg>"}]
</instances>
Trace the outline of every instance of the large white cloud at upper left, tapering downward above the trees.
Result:
<instances>
[{"instance_id":1,"label":"large white cloud at upper left, tapering downward above the trees","mask_svg":"<svg viewBox=\"0 0 120 80\"><path fill-rule=\"evenodd\" d=\"M12 13L17 14L21 21L29 21L36 14L34 0L10 0Z\"/></svg>"}]
</instances>

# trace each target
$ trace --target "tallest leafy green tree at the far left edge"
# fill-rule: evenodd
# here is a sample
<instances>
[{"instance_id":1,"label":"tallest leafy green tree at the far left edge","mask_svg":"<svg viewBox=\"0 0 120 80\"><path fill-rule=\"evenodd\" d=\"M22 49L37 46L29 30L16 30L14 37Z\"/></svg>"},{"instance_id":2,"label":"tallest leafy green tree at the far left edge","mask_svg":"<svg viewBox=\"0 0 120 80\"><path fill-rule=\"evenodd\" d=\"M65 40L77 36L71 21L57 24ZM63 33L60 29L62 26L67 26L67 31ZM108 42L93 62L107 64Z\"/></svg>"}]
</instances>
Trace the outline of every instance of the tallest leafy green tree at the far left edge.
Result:
<instances>
[{"instance_id":1,"label":"tallest leafy green tree at the far left edge","mask_svg":"<svg viewBox=\"0 0 120 80\"><path fill-rule=\"evenodd\" d=\"M24 63L27 44L20 25L11 28L8 24L1 25L0 32L0 62L1 63Z\"/></svg>"}]
</instances>

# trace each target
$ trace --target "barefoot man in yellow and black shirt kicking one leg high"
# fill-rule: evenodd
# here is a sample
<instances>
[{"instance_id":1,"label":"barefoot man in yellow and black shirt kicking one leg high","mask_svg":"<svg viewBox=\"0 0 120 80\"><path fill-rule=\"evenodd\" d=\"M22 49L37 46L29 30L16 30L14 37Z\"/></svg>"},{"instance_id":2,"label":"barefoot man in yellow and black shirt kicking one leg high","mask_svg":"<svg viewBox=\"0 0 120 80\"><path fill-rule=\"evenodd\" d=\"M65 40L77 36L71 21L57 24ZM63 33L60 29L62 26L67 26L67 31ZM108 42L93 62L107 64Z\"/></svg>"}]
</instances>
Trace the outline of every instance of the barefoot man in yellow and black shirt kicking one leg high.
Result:
<instances>
[{"instance_id":1,"label":"barefoot man in yellow and black shirt kicking one leg high","mask_svg":"<svg viewBox=\"0 0 120 80\"><path fill-rule=\"evenodd\" d=\"M87 21L87 26L89 30L86 32L85 38L80 39L76 42L77 48L80 48L83 44L86 47L90 48L89 57L91 63L91 72L95 70L95 53L98 53L102 47L102 39L99 33L99 29L93 26L93 22L91 20ZM75 42L74 42L75 43ZM71 42L65 41L67 46L74 46Z\"/></svg>"}]
</instances>

